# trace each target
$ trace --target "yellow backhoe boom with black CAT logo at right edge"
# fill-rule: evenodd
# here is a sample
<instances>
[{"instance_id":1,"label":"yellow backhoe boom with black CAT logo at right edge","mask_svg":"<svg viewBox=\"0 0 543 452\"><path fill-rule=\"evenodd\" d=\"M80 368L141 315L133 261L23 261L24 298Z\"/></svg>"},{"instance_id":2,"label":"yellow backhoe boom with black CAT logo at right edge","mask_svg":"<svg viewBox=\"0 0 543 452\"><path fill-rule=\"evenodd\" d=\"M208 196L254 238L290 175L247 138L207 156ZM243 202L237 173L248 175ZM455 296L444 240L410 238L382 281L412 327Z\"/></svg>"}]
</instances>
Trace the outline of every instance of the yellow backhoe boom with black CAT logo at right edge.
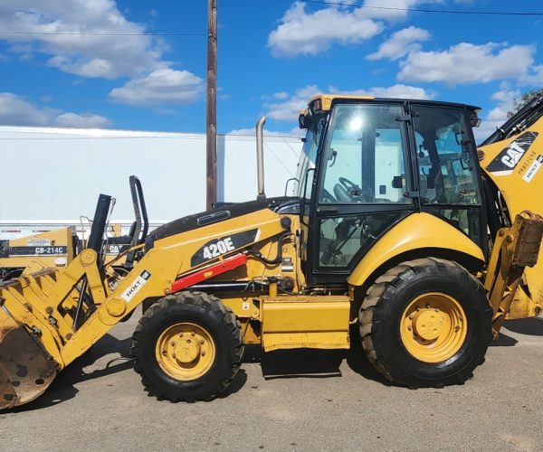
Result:
<instances>
[{"instance_id":1,"label":"yellow backhoe boom with black CAT logo at right edge","mask_svg":"<svg viewBox=\"0 0 543 452\"><path fill-rule=\"evenodd\" d=\"M543 97L529 102L499 127L482 143L478 155L495 189L489 206L505 219L503 227L493 231L494 248L485 282L496 313L496 334L505 318L534 316L543 309L543 259L537 259L539 215L543 215L539 195L543 193ZM526 257L529 242L533 254L525 259L522 255Z\"/></svg>"}]
</instances>

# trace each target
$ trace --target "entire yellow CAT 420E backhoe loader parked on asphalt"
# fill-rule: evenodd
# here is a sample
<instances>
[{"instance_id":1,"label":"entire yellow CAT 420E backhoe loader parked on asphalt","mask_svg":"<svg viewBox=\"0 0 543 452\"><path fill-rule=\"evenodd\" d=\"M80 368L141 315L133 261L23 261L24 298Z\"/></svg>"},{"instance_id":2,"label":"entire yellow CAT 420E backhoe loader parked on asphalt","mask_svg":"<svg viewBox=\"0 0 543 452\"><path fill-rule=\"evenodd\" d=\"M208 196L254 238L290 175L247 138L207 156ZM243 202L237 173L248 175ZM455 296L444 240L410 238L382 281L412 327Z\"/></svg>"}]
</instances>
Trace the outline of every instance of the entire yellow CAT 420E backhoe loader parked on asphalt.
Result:
<instances>
[{"instance_id":1,"label":"entire yellow CAT 420E backhoe loader parked on asphalt","mask_svg":"<svg viewBox=\"0 0 543 452\"><path fill-rule=\"evenodd\" d=\"M507 316L543 306L541 99L479 149L477 112L320 95L300 115L297 193L274 199L261 120L257 200L150 232L116 281L103 260L111 198L100 195L87 248L67 268L0 286L0 407L38 397L142 304L130 353L167 400L213 399L244 344L348 349L350 325L390 381L466 381Z\"/></svg>"}]
</instances>

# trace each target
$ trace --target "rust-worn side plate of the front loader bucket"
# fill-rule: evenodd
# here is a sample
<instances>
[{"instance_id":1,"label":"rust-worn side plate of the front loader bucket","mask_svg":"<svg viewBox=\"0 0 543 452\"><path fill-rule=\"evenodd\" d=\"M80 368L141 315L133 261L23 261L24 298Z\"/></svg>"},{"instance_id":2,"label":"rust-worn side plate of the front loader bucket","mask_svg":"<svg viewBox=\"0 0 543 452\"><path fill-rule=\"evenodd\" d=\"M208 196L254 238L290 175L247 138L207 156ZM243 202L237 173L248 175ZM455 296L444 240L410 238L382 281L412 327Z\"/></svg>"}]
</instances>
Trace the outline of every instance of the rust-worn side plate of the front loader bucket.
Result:
<instances>
[{"instance_id":1,"label":"rust-worn side plate of the front loader bucket","mask_svg":"<svg viewBox=\"0 0 543 452\"><path fill-rule=\"evenodd\" d=\"M0 410L36 399L56 374L54 362L32 334L0 307Z\"/></svg>"}]
</instances>

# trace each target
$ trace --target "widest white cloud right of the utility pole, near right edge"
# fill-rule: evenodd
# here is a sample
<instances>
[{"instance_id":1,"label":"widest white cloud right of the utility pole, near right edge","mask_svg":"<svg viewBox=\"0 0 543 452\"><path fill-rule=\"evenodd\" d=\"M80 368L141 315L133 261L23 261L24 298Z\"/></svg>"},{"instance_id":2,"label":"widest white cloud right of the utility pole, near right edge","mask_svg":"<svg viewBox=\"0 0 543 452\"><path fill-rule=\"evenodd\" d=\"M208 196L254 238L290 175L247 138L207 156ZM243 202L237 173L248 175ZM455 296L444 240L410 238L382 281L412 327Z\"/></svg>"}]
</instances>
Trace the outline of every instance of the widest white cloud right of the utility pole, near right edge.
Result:
<instances>
[{"instance_id":1,"label":"widest white cloud right of the utility pole, near right edge","mask_svg":"<svg viewBox=\"0 0 543 452\"><path fill-rule=\"evenodd\" d=\"M488 42L462 42L443 52L410 52L400 63L398 80L443 82L450 85L516 79L533 63L535 47Z\"/></svg>"}]
</instances>

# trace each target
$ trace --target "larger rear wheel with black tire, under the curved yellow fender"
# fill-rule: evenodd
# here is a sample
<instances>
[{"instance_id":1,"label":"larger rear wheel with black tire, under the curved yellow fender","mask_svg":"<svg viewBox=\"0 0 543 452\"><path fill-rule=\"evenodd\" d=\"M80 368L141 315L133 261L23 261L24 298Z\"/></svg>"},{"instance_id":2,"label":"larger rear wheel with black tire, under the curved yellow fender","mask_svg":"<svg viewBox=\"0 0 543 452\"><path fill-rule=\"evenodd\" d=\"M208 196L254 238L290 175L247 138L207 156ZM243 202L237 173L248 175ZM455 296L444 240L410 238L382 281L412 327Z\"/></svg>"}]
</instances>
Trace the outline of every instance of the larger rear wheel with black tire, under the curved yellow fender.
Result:
<instances>
[{"instance_id":1,"label":"larger rear wheel with black tire, under the curved yellow fender","mask_svg":"<svg viewBox=\"0 0 543 452\"><path fill-rule=\"evenodd\" d=\"M481 283L456 262L416 259L367 291L359 315L367 357L387 380L408 386L463 383L484 361L492 309Z\"/></svg>"}]
</instances>

